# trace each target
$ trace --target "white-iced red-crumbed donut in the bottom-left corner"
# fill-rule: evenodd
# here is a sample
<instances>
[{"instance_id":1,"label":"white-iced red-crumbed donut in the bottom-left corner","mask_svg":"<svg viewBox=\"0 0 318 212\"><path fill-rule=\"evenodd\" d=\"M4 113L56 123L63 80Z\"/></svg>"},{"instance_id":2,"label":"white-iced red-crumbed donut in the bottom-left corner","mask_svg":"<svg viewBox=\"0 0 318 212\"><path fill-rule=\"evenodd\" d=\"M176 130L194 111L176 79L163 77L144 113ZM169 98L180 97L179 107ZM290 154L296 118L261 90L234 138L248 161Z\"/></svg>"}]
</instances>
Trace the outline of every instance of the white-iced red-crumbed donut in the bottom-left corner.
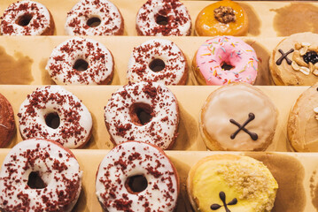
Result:
<instances>
[{"instance_id":1,"label":"white-iced red-crumbed donut in the bottom-left corner","mask_svg":"<svg viewBox=\"0 0 318 212\"><path fill-rule=\"evenodd\" d=\"M0 170L1 211L72 211L81 193L80 165L52 140L19 142Z\"/></svg>"}]
</instances>

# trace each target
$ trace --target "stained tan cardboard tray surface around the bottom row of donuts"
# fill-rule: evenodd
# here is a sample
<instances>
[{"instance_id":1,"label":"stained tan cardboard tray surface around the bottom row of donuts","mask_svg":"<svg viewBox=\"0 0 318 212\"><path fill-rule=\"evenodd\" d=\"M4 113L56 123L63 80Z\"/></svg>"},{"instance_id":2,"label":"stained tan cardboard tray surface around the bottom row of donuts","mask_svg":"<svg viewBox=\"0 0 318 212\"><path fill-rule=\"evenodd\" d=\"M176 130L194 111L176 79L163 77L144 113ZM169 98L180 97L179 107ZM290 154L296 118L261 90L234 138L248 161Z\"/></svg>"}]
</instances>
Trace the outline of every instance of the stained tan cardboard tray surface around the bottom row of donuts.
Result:
<instances>
[{"instance_id":1,"label":"stained tan cardboard tray surface around the bottom row of donuts","mask_svg":"<svg viewBox=\"0 0 318 212\"><path fill-rule=\"evenodd\" d=\"M3 163L5 155L9 152L10 149L0 149L0 163ZM108 150L73 150L74 155L77 157L81 170L83 170L82 176L82 191L80 199L77 205L74 208L74 212L99 212L102 211L97 197L95 194L95 178L98 164L102 161L104 156L107 154ZM190 167L198 162L201 158L212 155L220 154L220 152L184 152L184 151L167 151L166 152L169 158L172 160L172 163L175 164L175 167L180 176L180 186L181 193L179 196L177 211L178 212L190 212L190 202L188 201L188 196L186 193L186 178ZM232 154L232 153L230 153ZM243 153L233 153L233 154L243 154ZM248 155L248 154L247 154ZM268 157L273 154L258 153L252 155L253 157ZM315 171L318 169L318 154L301 154L301 153L280 153L274 154L279 157L283 157L283 160L291 160L292 163L299 163L299 170L287 170L287 174L291 177L297 177L296 175L302 175L302 178L299 182L289 182L288 178L279 179L276 178L277 170L270 169L273 175L275 176L278 182L278 192L275 201L275 208L272 212L301 212L301 211L315 211L312 201L314 200L314 188L317 187L317 180ZM278 163L277 157L275 160L265 163L267 165L272 165ZM266 162L266 160L261 159L260 161ZM283 169L283 167L282 167ZM279 171L278 171L279 172ZM281 171L282 172L282 171ZM298 185L293 185L298 184ZM289 191L289 186L295 186L294 191ZM302 194L302 198L297 198L299 193ZM294 200L286 200L286 198L293 198ZM292 202L296 201L297 204L293 205ZM291 208L291 206L293 208ZM283 210L280 208L284 208ZM285 210L286 209L286 210Z\"/></svg>"}]
</instances>

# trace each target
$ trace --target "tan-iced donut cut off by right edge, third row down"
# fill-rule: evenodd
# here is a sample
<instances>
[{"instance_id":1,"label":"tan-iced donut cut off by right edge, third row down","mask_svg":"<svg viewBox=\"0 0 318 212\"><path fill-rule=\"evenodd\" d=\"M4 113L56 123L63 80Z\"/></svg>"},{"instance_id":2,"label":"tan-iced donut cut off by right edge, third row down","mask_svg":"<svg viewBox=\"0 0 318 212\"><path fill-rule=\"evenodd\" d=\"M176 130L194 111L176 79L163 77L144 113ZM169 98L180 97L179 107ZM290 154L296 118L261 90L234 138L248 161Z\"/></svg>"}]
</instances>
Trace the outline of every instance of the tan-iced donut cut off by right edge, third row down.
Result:
<instances>
[{"instance_id":1,"label":"tan-iced donut cut off by right edge, third row down","mask_svg":"<svg viewBox=\"0 0 318 212\"><path fill-rule=\"evenodd\" d=\"M287 124L288 140L298 152L318 152L318 84L299 95Z\"/></svg>"}]
</instances>

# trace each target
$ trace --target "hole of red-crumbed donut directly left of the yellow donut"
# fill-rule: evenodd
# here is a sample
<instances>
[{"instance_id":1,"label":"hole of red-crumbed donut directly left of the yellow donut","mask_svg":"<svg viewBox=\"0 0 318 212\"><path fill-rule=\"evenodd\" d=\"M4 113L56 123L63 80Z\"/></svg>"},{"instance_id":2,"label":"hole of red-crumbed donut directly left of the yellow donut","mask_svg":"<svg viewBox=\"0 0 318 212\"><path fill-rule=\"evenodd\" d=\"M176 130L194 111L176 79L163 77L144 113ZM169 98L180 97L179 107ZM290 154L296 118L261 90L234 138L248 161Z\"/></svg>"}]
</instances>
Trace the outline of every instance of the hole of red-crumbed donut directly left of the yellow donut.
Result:
<instances>
[{"instance_id":1,"label":"hole of red-crumbed donut directly left of the yellow donut","mask_svg":"<svg viewBox=\"0 0 318 212\"><path fill-rule=\"evenodd\" d=\"M128 193L141 193L143 192L148 186L147 178L143 175L134 175L127 178L125 182L125 187Z\"/></svg>"}]
</instances>

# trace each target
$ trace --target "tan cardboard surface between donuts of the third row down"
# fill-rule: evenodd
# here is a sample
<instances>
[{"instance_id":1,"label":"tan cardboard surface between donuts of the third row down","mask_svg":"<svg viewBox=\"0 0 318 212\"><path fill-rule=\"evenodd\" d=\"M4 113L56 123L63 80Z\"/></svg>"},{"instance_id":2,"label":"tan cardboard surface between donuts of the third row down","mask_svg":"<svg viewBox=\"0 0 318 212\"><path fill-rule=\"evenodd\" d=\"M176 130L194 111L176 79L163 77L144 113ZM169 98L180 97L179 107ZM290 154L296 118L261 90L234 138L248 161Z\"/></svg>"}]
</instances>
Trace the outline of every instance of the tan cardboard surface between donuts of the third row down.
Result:
<instances>
[{"instance_id":1,"label":"tan cardboard surface between donuts of the third row down","mask_svg":"<svg viewBox=\"0 0 318 212\"><path fill-rule=\"evenodd\" d=\"M112 95L112 92L120 86L69 86L66 90L78 96L89 109L93 117L93 138L89 140L86 149L110 149L112 142L105 127L104 107ZM0 93L4 95L15 113L17 129L19 129L17 113L20 104L35 90L36 86L0 86ZM206 150L198 130L198 117L203 103L208 95L217 87L208 86L180 86L169 87L175 94L180 109L179 136L175 142L174 150ZM289 112L293 103L307 87L259 87L275 103L278 110L278 123L273 143L268 151L291 151L286 139L286 125ZM7 148L12 148L19 142L21 137L19 131L14 136Z\"/></svg>"}]
</instances>

